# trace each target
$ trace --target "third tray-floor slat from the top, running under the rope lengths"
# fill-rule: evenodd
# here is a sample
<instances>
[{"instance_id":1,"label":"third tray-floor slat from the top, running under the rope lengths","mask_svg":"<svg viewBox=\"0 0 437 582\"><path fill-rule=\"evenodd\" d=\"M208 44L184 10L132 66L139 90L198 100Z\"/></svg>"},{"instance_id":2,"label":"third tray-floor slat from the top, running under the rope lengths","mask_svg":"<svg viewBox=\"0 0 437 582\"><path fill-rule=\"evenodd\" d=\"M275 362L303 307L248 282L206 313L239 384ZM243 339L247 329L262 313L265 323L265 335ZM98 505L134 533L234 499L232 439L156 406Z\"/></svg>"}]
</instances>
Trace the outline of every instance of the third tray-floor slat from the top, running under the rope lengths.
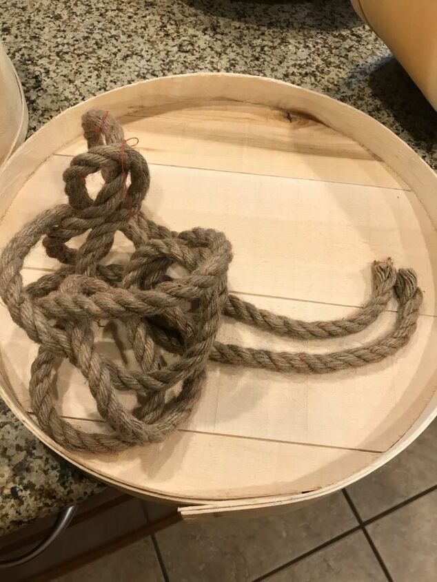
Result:
<instances>
[{"instance_id":1,"label":"third tray-floor slat from the top, running under the rope lengths","mask_svg":"<svg viewBox=\"0 0 437 582\"><path fill-rule=\"evenodd\" d=\"M25 274L29 281L43 272L28 270ZM258 297L256 302L265 309L307 320L341 318L351 311L339 306L272 298ZM23 408L30 410L30 365L37 346L15 326L3 306L0 315L3 370ZM394 318L395 313L384 313L371 328L329 342L285 340L225 319L219 339L264 349L331 351L359 346L378 337L393 325ZM114 330L116 344L111 335ZM411 418L420 415L434 393L436 342L437 318L421 316L418 331L405 349L379 364L354 371L321 376L282 375L211 362L201 400L183 428L258 440L387 450L409 428ZM121 326L96 329L96 345L112 360L134 365ZM124 346L122 354L117 346ZM63 415L100 418L81 373L68 362L59 368L56 394ZM120 393L119 398L129 408L136 404L131 393Z\"/></svg>"}]
</instances>

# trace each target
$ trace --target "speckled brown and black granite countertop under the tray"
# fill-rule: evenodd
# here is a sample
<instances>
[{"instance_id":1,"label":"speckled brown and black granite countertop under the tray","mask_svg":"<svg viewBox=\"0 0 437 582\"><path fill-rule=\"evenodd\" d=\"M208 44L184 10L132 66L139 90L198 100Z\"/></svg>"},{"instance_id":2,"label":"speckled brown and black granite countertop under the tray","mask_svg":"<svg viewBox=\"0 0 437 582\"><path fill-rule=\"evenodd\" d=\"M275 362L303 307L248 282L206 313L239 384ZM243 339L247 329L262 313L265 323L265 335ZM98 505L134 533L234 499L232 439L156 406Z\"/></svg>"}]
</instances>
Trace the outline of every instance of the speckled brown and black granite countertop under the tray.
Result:
<instances>
[{"instance_id":1,"label":"speckled brown and black granite countertop under the tray","mask_svg":"<svg viewBox=\"0 0 437 582\"><path fill-rule=\"evenodd\" d=\"M0 9L30 133L120 85L226 71L271 76L354 105L437 167L436 113L349 0L0 0ZM101 487L0 401L0 534Z\"/></svg>"}]
</instances>

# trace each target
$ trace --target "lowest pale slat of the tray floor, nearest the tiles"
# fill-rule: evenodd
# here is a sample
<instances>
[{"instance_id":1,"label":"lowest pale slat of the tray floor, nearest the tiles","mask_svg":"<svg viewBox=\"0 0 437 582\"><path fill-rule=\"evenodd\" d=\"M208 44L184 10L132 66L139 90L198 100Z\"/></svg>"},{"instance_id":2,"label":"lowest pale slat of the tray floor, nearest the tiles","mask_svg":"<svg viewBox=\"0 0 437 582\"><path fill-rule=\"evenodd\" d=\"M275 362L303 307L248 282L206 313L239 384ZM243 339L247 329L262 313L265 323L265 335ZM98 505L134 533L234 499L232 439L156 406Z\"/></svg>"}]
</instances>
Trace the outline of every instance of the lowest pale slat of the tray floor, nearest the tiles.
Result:
<instances>
[{"instance_id":1,"label":"lowest pale slat of the tray floor, nearest the tiles","mask_svg":"<svg viewBox=\"0 0 437 582\"><path fill-rule=\"evenodd\" d=\"M99 423L75 424L84 430L101 431ZM133 447L122 454L75 455L85 468L103 478L116 479L121 486L187 499L235 499L314 490L327 481L352 475L377 456L180 431L163 443Z\"/></svg>"}]
</instances>

